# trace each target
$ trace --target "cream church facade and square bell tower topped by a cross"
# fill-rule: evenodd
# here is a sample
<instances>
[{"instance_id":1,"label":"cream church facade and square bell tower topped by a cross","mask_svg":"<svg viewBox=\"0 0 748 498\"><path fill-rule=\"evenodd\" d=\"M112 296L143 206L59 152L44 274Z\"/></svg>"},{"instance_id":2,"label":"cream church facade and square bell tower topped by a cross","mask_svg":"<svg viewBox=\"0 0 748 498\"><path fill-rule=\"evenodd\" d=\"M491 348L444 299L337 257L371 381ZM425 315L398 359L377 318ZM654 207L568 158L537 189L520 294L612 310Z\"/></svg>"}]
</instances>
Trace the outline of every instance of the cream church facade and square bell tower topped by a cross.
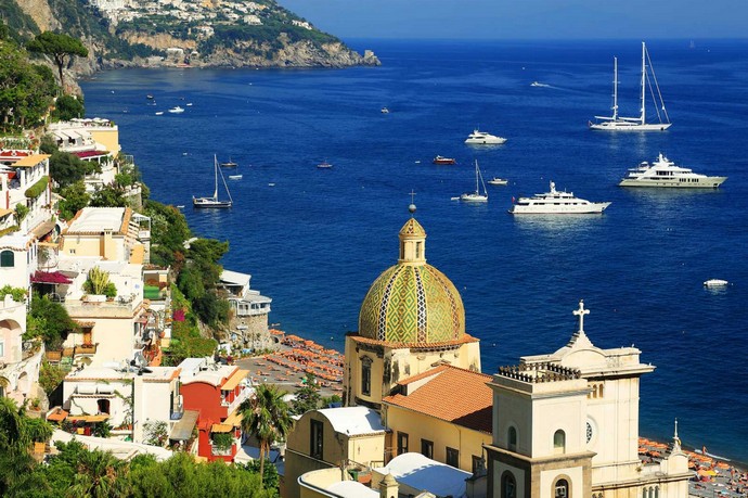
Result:
<instances>
[{"instance_id":1,"label":"cream church facade and square bell tower topped by a cross","mask_svg":"<svg viewBox=\"0 0 748 498\"><path fill-rule=\"evenodd\" d=\"M550 355L523 357L493 376L488 496L687 496L687 457L675 440L662 462L639 458L639 380L655 367L634 347L601 349L579 330Z\"/></svg>"}]
</instances>

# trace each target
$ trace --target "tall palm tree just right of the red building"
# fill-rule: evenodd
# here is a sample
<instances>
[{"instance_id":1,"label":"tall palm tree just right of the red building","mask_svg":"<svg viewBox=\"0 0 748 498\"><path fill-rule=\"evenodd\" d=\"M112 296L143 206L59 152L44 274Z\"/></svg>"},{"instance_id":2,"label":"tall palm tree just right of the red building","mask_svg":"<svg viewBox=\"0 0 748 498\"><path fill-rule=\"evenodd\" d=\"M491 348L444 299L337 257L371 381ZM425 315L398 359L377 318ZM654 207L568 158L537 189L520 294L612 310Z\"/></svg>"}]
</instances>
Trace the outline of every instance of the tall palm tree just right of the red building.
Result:
<instances>
[{"instance_id":1,"label":"tall palm tree just right of the red building","mask_svg":"<svg viewBox=\"0 0 748 498\"><path fill-rule=\"evenodd\" d=\"M260 485L270 444L275 439L285 439L294 423L288 405L283 400L286 394L273 384L260 384L255 388L254 396L238 406L242 431L255 436L260 444Z\"/></svg>"}]
</instances>

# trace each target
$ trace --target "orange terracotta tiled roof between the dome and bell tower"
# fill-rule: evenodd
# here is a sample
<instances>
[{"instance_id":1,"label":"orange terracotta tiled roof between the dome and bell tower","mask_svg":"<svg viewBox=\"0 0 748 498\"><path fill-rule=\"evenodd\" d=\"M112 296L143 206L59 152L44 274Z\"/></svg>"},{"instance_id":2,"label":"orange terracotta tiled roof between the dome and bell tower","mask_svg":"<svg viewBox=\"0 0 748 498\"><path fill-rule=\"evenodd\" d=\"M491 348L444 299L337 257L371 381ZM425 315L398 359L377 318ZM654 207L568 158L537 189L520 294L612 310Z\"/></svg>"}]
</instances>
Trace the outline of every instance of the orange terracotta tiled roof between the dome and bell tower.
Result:
<instances>
[{"instance_id":1,"label":"orange terracotta tiled roof between the dome and bell tower","mask_svg":"<svg viewBox=\"0 0 748 498\"><path fill-rule=\"evenodd\" d=\"M491 379L485 373L439 366L400 383L408 395L387 396L383 401L491 434L493 392L487 385ZM424 384L413 388L415 381Z\"/></svg>"}]
</instances>

